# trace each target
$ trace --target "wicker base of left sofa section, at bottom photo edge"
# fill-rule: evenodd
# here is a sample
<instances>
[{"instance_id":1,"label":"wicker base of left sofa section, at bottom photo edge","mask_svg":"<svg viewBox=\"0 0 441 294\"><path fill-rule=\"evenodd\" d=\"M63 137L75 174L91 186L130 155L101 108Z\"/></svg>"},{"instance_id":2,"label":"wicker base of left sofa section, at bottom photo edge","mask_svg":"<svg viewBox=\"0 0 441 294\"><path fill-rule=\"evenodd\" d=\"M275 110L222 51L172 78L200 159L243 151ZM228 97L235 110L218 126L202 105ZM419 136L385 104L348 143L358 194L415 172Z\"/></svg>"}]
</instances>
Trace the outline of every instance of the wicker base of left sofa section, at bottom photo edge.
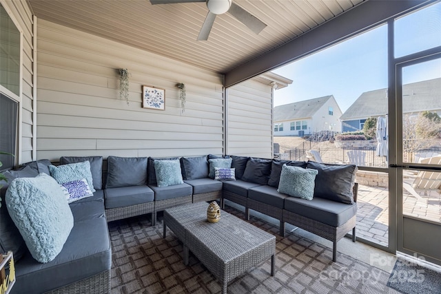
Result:
<instances>
[{"instance_id":1,"label":"wicker base of left sofa section, at bottom photo edge","mask_svg":"<svg viewBox=\"0 0 441 294\"><path fill-rule=\"evenodd\" d=\"M92 277L87 277L81 281L68 284L61 288L46 292L48 294L79 294L94 293L108 294L110 293L110 270L97 273Z\"/></svg>"}]
</instances>

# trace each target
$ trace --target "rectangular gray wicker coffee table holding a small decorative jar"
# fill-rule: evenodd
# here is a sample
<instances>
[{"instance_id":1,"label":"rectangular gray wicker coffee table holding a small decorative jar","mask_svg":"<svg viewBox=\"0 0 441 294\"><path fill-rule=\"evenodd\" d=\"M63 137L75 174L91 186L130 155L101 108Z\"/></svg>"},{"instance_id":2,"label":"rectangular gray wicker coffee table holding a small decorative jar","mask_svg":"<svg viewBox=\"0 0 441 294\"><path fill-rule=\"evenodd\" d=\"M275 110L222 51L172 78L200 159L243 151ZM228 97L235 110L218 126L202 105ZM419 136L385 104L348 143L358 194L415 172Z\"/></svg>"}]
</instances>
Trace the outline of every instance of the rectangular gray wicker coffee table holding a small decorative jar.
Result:
<instances>
[{"instance_id":1,"label":"rectangular gray wicker coffee table holding a small decorative jar","mask_svg":"<svg viewBox=\"0 0 441 294\"><path fill-rule=\"evenodd\" d=\"M268 258L274 275L276 237L225 211L219 222L207 222L207 207L199 202L164 211L164 238L169 227L183 242L184 264L192 251L222 284L222 293L229 281Z\"/></svg>"}]
</instances>

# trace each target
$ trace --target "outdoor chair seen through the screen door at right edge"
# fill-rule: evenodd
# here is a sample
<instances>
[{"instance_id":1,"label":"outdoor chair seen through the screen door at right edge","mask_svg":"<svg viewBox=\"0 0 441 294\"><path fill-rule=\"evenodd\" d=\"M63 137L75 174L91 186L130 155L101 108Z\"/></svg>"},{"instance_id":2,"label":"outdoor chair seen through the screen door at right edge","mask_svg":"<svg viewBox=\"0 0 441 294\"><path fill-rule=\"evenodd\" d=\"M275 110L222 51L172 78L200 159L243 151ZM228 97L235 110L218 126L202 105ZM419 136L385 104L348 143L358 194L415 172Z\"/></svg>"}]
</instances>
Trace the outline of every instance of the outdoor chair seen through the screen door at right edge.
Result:
<instances>
[{"instance_id":1,"label":"outdoor chair seen through the screen door at right edge","mask_svg":"<svg viewBox=\"0 0 441 294\"><path fill-rule=\"evenodd\" d=\"M424 158L420 160L420 163L426 165L441 165L441 156L433 156L431 158ZM412 185L409 185L407 182L402 183L402 187L406 189L412 196L421 200L422 202L427 203L427 200L422 198L420 194L418 194L415 189L424 189L424 190L436 190L441 186L441 173L435 171L418 171L418 174L413 180Z\"/></svg>"}]
</instances>

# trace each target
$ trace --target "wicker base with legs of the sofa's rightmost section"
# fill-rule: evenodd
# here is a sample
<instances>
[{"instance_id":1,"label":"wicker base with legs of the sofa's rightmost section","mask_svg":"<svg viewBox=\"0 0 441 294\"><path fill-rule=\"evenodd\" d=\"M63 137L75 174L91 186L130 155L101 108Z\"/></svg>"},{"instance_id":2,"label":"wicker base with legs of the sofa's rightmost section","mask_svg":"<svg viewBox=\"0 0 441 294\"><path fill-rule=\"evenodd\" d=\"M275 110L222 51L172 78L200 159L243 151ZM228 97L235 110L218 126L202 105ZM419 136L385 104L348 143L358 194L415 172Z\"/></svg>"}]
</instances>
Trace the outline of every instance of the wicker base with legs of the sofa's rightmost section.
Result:
<instances>
[{"instance_id":1,"label":"wicker base with legs of the sofa's rightmost section","mask_svg":"<svg viewBox=\"0 0 441 294\"><path fill-rule=\"evenodd\" d=\"M291 211L283 210L283 222L288 222L293 224L300 229L309 231L322 238L330 240L333 242L332 246L332 261L336 261L337 257L337 242L345 237L345 235L352 229L352 241L356 242L356 223L357 216L350 218L345 224L340 227L332 227L329 224L323 224L322 222L317 222L316 220L311 220L310 218L305 218L305 216L300 216L297 213ZM285 231L283 231L283 237L285 237Z\"/></svg>"}]
</instances>

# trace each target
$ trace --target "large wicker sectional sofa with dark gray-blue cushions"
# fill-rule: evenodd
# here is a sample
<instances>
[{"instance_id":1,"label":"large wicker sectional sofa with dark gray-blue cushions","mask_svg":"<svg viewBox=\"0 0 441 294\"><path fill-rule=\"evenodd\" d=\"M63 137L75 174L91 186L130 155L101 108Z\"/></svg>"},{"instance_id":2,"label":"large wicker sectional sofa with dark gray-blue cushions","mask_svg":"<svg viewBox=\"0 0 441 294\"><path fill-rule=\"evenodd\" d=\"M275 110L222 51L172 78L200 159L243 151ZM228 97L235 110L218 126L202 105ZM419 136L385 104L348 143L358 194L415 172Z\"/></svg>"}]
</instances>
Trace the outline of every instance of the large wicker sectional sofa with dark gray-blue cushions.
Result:
<instances>
[{"instance_id":1,"label":"large wicker sectional sofa with dark gray-blue cushions","mask_svg":"<svg viewBox=\"0 0 441 294\"><path fill-rule=\"evenodd\" d=\"M3 183L0 250L14 251L17 283L12 293L110 293L112 254L107 222L151 213L154 225L159 211L191 202L218 199L225 205L227 199L243 205L247 219L250 209L278 219L280 235L285 235L285 222L311 231L334 243L334 261L338 240L351 229L355 241L354 165L246 156L109 156L107 160L101 156L63 156L59 162L28 162L6 174L11 183L14 178L57 171L50 165L70 167L86 161L95 191L93 196L68 204L73 227L50 262L38 262L26 248L6 209L7 183Z\"/></svg>"}]
</instances>

